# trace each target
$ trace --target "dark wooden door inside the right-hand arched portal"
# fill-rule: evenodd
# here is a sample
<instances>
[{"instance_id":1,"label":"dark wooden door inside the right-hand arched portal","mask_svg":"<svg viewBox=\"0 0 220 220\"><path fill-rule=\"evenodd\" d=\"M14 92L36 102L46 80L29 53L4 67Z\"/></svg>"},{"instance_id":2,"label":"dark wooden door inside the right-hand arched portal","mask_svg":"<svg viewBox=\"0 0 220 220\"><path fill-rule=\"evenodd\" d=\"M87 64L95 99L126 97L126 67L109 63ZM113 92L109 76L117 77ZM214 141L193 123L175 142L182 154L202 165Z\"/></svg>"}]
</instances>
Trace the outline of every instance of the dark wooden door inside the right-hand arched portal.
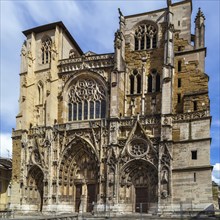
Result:
<instances>
[{"instance_id":1,"label":"dark wooden door inside the right-hand arched portal","mask_svg":"<svg viewBox=\"0 0 220 220\"><path fill-rule=\"evenodd\" d=\"M147 213L148 211L148 190L146 187L135 188L136 201L135 212Z\"/></svg>"}]
</instances>

